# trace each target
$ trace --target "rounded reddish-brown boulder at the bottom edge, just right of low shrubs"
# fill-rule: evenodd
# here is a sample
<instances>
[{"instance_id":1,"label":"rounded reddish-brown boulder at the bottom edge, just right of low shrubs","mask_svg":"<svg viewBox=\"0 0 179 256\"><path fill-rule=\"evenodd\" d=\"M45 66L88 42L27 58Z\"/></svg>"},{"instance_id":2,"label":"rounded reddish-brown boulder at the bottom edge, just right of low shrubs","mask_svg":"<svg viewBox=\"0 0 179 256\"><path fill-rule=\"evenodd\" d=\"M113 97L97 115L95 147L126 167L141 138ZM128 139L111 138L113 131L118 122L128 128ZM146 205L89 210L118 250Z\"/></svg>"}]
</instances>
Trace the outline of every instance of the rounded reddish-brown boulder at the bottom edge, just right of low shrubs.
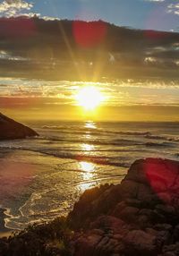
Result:
<instances>
[{"instance_id":1,"label":"rounded reddish-brown boulder at the bottom edge, just right of low shrubs","mask_svg":"<svg viewBox=\"0 0 179 256\"><path fill-rule=\"evenodd\" d=\"M93 228L96 229L93 229ZM127 235L129 226L119 218L103 216L91 224L89 231L73 243L74 255L107 255L124 249L122 239ZM101 229L103 233L96 234L94 230Z\"/></svg>"}]
</instances>

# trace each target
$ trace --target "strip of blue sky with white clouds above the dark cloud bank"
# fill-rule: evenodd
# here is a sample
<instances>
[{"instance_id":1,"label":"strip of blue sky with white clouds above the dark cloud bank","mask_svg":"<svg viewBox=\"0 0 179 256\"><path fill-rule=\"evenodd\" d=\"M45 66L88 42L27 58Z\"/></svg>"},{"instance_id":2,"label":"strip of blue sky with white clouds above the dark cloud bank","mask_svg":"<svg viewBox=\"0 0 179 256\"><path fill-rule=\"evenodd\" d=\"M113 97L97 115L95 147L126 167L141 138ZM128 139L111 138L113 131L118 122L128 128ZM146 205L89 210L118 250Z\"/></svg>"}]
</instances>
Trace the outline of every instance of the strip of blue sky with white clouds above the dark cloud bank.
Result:
<instances>
[{"instance_id":1,"label":"strip of blue sky with white clouds above the dark cloud bank","mask_svg":"<svg viewBox=\"0 0 179 256\"><path fill-rule=\"evenodd\" d=\"M2 16L38 15L46 19L104 20L135 29L179 31L177 0L4 0Z\"/></svg>"}]
</instances>

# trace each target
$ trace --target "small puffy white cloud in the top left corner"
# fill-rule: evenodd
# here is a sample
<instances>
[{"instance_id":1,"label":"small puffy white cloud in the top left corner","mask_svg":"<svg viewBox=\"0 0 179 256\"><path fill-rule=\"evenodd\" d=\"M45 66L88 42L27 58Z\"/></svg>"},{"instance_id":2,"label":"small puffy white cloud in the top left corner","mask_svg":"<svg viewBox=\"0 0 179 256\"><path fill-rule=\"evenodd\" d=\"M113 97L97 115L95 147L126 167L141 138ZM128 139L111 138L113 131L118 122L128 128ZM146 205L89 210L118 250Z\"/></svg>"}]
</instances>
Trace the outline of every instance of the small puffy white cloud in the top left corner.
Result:
<instances>
[{"instance_id":1,"label":"small puffy white cloud in the top left corner","mask_svg":"<svg viewBox=\"0 0 179 256\"><path fill-rule=\"evenodd\" d=\"M21 11L30 10L33 4L27 3L23 0L4 0L0 4L0 14L6 17L14 16Z\"/></svg>"}]
</instances>

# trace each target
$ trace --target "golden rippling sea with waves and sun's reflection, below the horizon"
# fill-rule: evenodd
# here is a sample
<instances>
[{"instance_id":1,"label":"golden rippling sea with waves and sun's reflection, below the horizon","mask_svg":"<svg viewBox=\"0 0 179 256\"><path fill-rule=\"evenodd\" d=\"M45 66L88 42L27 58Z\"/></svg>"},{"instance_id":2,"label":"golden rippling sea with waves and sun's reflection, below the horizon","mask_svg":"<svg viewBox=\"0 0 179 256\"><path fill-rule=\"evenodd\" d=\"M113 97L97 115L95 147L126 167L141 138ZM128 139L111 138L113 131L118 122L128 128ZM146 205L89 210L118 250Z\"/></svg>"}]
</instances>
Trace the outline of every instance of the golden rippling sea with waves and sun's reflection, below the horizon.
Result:
<instances>
[{"instance_id":1,"label":"golden rippling sea with waves and sun's reflection, below the horizon","mask_svg":"<svg viewBox=\"0 0 179 256\"><path fill-rule=\"evenodd\" d=\"M179 159L179 123L28 125L39 137L0 141L0 208L10 230L66 215L85 190L121 183L136 159Z\"/></svg>"}]
</instances>

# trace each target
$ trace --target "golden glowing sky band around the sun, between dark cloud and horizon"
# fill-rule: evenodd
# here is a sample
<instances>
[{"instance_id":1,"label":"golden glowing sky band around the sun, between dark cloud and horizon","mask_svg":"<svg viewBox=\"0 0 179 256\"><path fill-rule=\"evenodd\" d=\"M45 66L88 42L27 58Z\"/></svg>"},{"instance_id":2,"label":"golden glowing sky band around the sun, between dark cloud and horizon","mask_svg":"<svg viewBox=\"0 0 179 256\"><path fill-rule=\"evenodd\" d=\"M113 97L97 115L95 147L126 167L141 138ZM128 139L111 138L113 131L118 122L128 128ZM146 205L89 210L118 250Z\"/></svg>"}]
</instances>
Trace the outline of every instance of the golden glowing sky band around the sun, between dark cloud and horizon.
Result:
<instances>
[{"instance_id":1,"label":"golden glowing sky band around the sun, between dark cloud and horizon","mask_svg":"<svg viewBox=\"0 0 179 256\"><path fill-rule=\"evenodd\" d=\"M179 122L179 84L151 81L43 81L1 78L0 109L19 121L94 120ZM76 102L82 86L95 86L104 97L95 112Z\"/></svg>"}]
</instances>

